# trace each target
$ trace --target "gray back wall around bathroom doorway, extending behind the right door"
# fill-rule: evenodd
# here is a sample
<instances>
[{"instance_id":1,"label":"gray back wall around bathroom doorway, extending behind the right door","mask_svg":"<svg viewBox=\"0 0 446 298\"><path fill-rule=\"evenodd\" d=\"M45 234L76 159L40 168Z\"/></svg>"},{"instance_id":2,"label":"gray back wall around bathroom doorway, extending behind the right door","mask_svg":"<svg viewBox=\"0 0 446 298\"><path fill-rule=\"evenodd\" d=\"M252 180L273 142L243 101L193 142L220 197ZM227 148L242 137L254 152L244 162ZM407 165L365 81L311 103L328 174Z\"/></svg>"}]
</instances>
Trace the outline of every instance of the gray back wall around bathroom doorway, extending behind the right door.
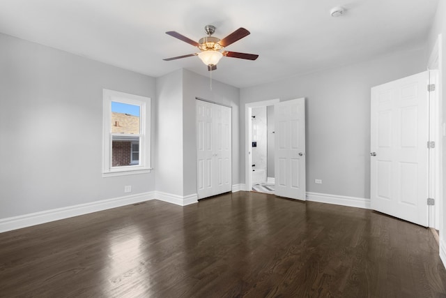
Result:
<instances>
[{"instance_id":1,"label":"gray back wall around bathroom doorway, extending behind the right door","mask_svg":"<svg viewBox=\"0 0 446 298\"><path fill-rule=\"evenodd\" d=\"M370 198L370 88L426 69L423 48L309 75L240 89L245 104L306 98L307 191ZM245 130L240 130L240 177L245 181ZM314 184L322 179L323 184Z\"/></svg>"}]
</instances>

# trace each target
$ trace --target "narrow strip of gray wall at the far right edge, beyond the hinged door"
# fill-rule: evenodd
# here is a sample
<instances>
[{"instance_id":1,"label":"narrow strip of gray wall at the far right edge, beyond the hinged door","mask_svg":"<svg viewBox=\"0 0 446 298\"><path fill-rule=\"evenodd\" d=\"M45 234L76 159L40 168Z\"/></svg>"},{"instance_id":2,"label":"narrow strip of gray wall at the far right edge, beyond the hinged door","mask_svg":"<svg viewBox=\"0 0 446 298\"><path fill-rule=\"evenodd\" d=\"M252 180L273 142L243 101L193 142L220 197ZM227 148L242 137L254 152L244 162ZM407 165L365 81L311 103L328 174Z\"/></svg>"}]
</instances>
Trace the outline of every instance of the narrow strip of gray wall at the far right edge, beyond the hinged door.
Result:
<instances>
[{"instance_id":1,"label":"narrow strip of gray wall at the far right edge, beyond the hinged door","mask_svg":"<svg viewBox=\"0 0 446 298\"><path fill-rule=\"evenodd\" d=\"M435 45L436 39L438 37L438 34L442 34L443 42L441 44L442 46L442 52L440 53L440 56L442 57L443 61L440 67L440 100L442 103L442 110L443 110L443 123L446 122L446 22L445 22L445 15L446 15L446 3L445 1L438 1L438 9L436 12L436 16L433 19L433 26L431 28L431 31L429 32L429 41L428 41L428 49L427 53L428 55L433 50L433 46ZM429 56L426 57L426 60L429 58ZM443 223L440 220L440 255L442 255L441 252L443 252L442 260L444 264L446 265L446 183L445 183L445 177L446 177L446 137L443 135L443 203L440 204L440 206L443 205L443 208L440 209L440 218L443 218Z\"/></svg>"}]
</instances>

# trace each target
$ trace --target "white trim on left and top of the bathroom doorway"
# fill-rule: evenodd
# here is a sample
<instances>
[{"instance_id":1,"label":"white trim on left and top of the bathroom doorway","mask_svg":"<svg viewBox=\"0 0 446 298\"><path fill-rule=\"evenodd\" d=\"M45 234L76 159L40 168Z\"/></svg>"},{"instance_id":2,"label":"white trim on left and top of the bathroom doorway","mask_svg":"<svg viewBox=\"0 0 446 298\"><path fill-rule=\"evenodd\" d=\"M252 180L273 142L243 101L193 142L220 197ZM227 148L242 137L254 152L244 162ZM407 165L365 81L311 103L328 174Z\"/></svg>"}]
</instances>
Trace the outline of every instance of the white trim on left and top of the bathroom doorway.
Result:
<instances>
[{"instance_id":1,"label":"white trim on left and top of the bathroom doorway","mask_svg":"<svg viewBox=\"0 0 446 298\"><path fill-rule=\"evenodd\" d=\"M270 99L256 101L254 103L245 104L245 191L251 191L251 166L252 166L252 108L253 107L268 107L279 103L280 99Z\"/></svg>"}]
</instances>

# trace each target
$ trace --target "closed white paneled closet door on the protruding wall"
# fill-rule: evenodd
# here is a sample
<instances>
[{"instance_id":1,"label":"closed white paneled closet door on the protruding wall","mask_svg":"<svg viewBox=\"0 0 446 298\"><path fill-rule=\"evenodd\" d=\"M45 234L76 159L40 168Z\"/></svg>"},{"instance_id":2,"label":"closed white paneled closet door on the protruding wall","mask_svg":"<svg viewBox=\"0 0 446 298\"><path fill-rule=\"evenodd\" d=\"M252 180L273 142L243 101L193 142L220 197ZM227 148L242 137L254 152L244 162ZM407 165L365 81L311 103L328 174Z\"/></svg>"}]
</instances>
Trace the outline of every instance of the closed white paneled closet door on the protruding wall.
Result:
<instances>
[{"instance_id":1,"label":"closed white paneled closet door on the protruding wall","mask_svg":"<svg viewBox=\"0 0 446 298\"><path fill-rule=\"evenodd\" d=\"M198 198L231 191L231 108L197 100Z\"/></svg>"}]
</instances>

